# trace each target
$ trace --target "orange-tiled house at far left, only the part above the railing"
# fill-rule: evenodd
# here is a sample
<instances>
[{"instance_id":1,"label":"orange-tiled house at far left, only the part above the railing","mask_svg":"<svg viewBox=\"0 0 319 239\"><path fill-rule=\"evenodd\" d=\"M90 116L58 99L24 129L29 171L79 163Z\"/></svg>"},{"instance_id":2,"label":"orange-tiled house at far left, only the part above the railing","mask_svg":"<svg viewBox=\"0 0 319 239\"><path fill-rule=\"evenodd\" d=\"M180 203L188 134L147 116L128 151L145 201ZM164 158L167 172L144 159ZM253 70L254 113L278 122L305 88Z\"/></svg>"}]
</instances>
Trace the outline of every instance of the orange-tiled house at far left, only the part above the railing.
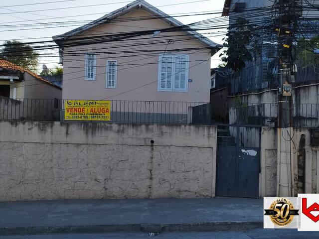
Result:
<instances>
[{"instance_id":1,"label":"orange-tiled house at far left, only the part above the railing","mask_svg":"<svg viewBox=\"0 0 319 239\"><path fill-rule=\"evenodd\" d=\"M30 70L0 59L0 96L10 99L61 99L62 90Z\"/></svg>"}]
</instances>

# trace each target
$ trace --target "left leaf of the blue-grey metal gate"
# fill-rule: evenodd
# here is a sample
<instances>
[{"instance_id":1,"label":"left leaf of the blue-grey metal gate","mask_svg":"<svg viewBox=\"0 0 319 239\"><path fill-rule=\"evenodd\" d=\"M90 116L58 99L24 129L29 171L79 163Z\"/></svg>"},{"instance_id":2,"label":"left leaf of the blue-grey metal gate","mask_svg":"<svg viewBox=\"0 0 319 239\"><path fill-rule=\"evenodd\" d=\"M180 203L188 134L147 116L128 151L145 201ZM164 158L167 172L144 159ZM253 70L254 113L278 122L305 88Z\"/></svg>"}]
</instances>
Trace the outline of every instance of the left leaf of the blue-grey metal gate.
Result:
<instances>
[{"instance_id":1,"label":"left leaf of the blue-grey metal gate","mask_svg":"<svg viewBox=\"0 0 319 239\"><path fill-rule=\"evenodd\" d=\"M216 195L236 195L236 147L218 146L216 161Z\"/></svg>"}]
</instances>

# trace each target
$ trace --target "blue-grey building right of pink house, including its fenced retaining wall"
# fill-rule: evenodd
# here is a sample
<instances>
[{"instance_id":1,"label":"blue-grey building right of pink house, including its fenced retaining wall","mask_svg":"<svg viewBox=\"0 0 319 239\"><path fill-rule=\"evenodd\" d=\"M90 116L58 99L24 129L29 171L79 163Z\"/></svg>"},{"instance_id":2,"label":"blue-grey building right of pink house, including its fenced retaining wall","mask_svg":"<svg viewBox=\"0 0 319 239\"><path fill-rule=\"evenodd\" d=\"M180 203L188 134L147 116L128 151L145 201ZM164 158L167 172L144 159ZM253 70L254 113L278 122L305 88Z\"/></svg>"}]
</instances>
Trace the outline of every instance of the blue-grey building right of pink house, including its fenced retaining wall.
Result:
<instances>
[{"instance_id":1,"label":"blue-grey building right of pink house, including its fenced retaining wall","mask_svg":"<svg viewBox=\"0 0 319 239\"><path fill-rule=\"evenodd\" d=\"M271 25L274 10L273 1L269 0L225 0L222 16L229 17L229 25L239 17L248 19L258 26ZM318 36L319 21L314 16L318 10L305 8L299 20L297 38L311 39ZM275 15L275 14L274 14ZM258 29L256 29L258 31ZM258 39L260 54L255 53L253 60L237 71L217 74L214 69L211 89L211 119L222 123L263 124L275 126L277 122L278 99L278 53L277 35L271 30L264 30ZM305 58L305 59L300 59ZM293 118L295 126L319 125L319 62L314 55L297 57L293 83ZM319 59L319 58L318 58ZM221 76L226 75L223 78Z\"/></svg>"}]
</instances>

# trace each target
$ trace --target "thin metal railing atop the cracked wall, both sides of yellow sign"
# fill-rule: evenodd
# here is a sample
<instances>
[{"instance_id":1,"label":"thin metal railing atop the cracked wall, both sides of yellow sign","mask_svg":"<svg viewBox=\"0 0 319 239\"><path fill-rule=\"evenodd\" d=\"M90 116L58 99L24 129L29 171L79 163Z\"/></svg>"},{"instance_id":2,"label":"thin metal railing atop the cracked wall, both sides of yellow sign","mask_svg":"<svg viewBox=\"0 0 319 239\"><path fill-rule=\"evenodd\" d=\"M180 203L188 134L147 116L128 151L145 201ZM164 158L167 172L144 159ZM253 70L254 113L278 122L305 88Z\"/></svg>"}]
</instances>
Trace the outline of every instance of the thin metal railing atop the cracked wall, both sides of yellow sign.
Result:
<instances>
[{"instance_id":1,"label":"thin metal railing atop the cracked wall, both sides of yellow sign","mask_svg":"<svg viewBox=\"0 0 319 239\"><path fill-rule=\"evenodd\" d=\"M65 100L0 98L0 120L64 119ZM192 107L206 102L110 101L110 122L186 124ZM189 121L189 120L188 120Z\"/></svg>"}]
</instances>

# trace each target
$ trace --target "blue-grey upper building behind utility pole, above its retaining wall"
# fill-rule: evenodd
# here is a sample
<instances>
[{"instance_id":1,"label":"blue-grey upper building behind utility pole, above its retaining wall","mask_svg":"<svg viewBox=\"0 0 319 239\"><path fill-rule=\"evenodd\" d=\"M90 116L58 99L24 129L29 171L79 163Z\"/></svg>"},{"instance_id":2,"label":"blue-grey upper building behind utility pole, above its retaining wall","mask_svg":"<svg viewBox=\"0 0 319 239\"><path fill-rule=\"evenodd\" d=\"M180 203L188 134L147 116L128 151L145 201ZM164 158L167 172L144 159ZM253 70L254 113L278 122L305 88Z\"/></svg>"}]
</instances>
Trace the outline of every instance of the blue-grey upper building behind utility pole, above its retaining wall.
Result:
<instances>
[{"instance_id":1,"label":"blue-grey upper building behind utility pole, above its retaining wall","mask_svg":"<svg viewBox=\"0 0 319 239\"><path fill-rule=\"evenodd\" d=\"M302 1L301 1L302 2ZM271 25L273 20L271 11L274 10L270 0L225 0L222 16L229 17L229 25L236 22L238 17L244 17L258 26ZM304 3L308 4L308 3ZM306 37L311 39L319 32L319 11L303 11L303 17L299 20L297 38ZM265 88L277 88L277 35L271 30L261 32L259 46L261 54L253 55L253 60L246 62L246 67L231 76L231 93L242 93L248 91L261 90ZM301 62L296 59L297 73L296 83L302 84L307 81L319 81L317 66L313 63Z\"/></svg>"}]
</instances>

